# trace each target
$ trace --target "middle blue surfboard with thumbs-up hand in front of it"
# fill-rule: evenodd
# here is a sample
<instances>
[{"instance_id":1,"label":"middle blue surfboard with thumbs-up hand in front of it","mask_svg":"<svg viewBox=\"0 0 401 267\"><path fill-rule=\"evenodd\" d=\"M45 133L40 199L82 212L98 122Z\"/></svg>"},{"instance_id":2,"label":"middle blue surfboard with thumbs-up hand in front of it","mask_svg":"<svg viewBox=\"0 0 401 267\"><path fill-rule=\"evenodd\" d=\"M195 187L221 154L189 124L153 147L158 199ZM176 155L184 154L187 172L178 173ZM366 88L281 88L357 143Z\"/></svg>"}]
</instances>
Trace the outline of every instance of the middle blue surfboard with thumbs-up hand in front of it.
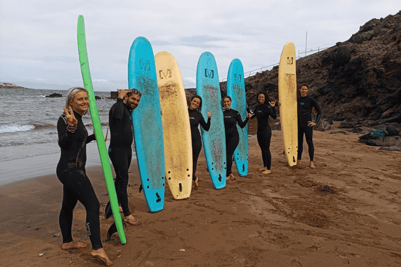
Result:
<instances>
[{"instance_id":1,"label":"middle blue surfboard with thumbs-up hand in front of it","mask_svg":"<svg viewBox=\"0 0 401 267\"><path fill-rule=\"evenodd\" d=\"M207 170L216 189L226 186L226 134L224 131L223 109L217 65L210 52L200 55L197 67L197 94L202 97L201 113L206 118L211 112L211 124L208 132L202 128L203 150Z\"/></svg>"}]
</instances>

